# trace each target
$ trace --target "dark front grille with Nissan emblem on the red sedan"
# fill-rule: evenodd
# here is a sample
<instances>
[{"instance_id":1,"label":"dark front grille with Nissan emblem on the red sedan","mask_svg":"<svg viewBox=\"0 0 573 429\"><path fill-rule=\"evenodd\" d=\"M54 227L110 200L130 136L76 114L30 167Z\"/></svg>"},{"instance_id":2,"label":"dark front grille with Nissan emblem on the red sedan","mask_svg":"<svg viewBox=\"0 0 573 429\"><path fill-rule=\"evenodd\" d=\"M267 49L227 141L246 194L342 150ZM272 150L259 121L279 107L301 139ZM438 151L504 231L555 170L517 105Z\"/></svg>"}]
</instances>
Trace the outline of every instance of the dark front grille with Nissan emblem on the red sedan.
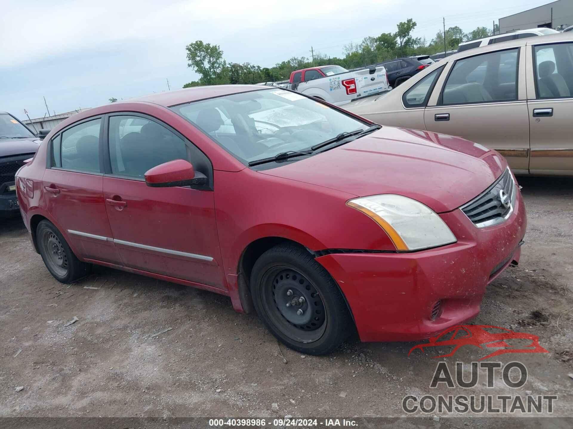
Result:
<instances>
[{"instance_id":1,"label":"dark front grille with Nissan emblem on the red sedan","mask_svg":"<svg viewBox=\"0 0 573 429\"><path fill-rule=\"evenodd\" d=\"M503 222L513 211L515 192L513 176L508 168L493 185L468 204L462 205L461 210L476 227L490 227Z\"/></svg>"}]
</instances>

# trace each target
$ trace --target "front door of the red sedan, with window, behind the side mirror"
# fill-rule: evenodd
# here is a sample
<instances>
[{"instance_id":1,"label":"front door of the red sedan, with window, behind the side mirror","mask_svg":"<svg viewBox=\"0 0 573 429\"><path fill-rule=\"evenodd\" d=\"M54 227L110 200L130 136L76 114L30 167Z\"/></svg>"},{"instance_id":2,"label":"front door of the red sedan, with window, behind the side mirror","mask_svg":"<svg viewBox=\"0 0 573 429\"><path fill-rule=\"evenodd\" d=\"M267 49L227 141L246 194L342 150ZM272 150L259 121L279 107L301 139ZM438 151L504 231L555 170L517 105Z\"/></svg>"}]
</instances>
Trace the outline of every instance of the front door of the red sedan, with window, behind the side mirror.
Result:
<instances>
[{"instance_id":1,"label":"front door of the red sedan, with window, behind the side mirror","mask_svg":"<svg viewBox=\"0 0 573 429\"><path fill-rule=\"evenodd\" d=\"M210 189L151 188L145 172L185 159L210 177L210 162L193 144L145 116L109 117L109 171L103 194L123 265L225 288Z\"/></svg>"}]
</instances>

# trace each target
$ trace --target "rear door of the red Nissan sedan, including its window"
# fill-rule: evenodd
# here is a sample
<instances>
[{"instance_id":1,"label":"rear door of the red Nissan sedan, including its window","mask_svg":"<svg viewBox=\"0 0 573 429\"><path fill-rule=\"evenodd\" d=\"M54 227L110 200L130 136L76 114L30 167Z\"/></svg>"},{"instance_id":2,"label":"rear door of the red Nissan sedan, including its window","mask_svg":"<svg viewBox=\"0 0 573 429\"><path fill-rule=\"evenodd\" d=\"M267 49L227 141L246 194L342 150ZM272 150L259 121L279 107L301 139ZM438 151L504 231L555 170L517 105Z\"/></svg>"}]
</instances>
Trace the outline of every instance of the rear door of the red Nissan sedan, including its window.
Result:
<instances>
[{"instance_id":1,"label":"rear door of the red Nissan sedan, including its window","mask_svg":"<svg viewBox=\"0 0 573 429\"><path fill-rule=\"evenodd\" d=\"M102 118L88 119L52 138L42 191L48 212L77 256L119 264L102 192L102 128Z\"/></svg>"}]
</instances>

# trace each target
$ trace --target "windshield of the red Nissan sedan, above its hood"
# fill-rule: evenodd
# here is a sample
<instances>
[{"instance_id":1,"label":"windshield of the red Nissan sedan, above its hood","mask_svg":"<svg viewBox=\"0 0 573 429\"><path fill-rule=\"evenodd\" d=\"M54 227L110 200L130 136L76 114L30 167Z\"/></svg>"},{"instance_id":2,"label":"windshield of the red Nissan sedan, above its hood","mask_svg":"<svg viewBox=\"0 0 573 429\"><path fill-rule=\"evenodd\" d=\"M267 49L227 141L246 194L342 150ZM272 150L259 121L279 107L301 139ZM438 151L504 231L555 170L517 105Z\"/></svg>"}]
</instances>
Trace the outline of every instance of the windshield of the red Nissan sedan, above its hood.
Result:
<instances>
[{"instance_id":1,"label":"windshield of the red Nissan sedan, above its hood","mask_svg":"<svg viewBox=\"0 0 573 429\"><path fill-rule=\"evenodd\" d=\"M171 110L201 128L244 164L308 149L340 133L370 126L283 89L194 101Z\"/></svg>"}]
</instances>

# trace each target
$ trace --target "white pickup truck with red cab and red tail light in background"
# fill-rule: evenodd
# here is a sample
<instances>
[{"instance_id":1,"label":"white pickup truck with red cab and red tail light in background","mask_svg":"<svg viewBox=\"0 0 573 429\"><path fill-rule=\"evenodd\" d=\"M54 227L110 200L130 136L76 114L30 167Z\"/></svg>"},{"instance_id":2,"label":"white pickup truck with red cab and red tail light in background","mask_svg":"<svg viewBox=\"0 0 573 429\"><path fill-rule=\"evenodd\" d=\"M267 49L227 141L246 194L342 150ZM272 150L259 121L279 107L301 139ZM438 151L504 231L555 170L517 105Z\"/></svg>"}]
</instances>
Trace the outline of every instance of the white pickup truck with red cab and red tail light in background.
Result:
<instances>
[{"instance_id":1,"label":"white pickup truck with red cab and red tail light in background","mask_svg":"<svg viewBox=\"0 0 573 429\"><path fill-rule=\"evenodd\" d=\"M319 66L291 73L289 89L335 105L392 89L383 66L349 72L340 66Z\"/></svg>"}]
</instances>

